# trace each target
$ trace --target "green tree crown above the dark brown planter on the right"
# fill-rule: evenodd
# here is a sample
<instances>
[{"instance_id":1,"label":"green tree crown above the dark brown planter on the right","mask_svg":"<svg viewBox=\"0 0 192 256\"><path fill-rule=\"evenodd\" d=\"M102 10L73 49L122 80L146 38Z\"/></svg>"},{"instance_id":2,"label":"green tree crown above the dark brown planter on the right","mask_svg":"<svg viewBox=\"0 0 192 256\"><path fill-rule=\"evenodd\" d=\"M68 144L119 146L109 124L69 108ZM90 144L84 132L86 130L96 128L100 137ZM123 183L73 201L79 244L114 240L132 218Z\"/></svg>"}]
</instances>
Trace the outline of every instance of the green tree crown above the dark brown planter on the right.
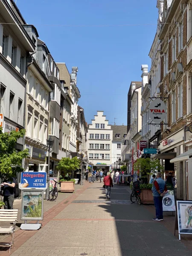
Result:
<instances>
[{"instance_id":1,"label":"green tree crown above the dark brown planter on the right","mask_svg":"<svg viewBox=\"0 0 192 256\"><path fill-rule=\"evenodd\" d=\"M161 166L159 159L151 161L150 158L139 158L134 163L134 171L139 171L142 177L147 177L147 175L152 175L162 170L163 166Z\"/></svg>"}]
</instances>

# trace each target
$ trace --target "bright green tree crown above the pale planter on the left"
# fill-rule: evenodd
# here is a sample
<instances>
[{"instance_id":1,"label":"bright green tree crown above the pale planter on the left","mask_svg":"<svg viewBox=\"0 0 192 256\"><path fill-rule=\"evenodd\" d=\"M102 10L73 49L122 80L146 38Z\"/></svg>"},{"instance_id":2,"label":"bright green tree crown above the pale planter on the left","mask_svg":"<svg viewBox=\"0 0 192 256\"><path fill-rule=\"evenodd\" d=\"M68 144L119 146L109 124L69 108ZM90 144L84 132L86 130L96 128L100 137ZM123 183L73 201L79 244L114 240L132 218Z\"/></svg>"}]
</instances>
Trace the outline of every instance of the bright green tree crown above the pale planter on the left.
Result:
<instances>
[{"instance_id":1,"label":"bright green tree crown above the pale planter on the left","mask_svg":"<svg viewBox=\"0 0 192 256\"><path fill-rule=\"evenodd\" d=\"M77 157L69 158L62 157L58 163L57 169L62 172L63 176L67 175L67 173L72 173L72 171L79 169L79 165L81 160Z\"/></svg>"}]
</instances>

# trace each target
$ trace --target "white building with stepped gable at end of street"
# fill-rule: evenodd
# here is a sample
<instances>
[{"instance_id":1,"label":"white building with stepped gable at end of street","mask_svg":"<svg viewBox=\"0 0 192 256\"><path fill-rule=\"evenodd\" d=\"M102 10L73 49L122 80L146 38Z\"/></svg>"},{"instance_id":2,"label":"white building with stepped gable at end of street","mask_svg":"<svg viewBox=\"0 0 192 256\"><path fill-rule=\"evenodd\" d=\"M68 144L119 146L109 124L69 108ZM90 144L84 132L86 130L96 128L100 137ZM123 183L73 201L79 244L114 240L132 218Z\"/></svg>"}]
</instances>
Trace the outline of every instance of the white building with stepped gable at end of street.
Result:
<instances>
[{"instance_id":1,"label":"white building with stepped gable at end of street","mask_svg":"<svg viewBox=\"0 0 192 256\"><path fill-rule=\"evenodd\" d=\"M93 169L111 170L113 130L108 124L104 111L97 111L95 119L87 128L88 159Z\"/></svg>"}]
</instances>

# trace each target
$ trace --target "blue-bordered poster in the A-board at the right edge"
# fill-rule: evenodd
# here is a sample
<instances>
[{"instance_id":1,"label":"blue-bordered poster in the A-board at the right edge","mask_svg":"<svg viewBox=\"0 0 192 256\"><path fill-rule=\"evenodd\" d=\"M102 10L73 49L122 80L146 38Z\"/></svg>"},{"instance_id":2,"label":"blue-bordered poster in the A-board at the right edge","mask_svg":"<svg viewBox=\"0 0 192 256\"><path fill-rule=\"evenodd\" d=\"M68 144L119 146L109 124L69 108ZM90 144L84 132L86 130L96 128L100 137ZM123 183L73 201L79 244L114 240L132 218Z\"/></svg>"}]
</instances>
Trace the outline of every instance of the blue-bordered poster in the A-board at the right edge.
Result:
<instances>
[{"instance_id":1,"label":"blue-bordered poster in the A-board at the right edge","mask_svg":"<svg viewBox=\"0 0 192 256\"><path fill-rule=\"evenodd\" d=\"M192 201L177 201L179 234L192 234Z\"/></svg>"}]
</instances>

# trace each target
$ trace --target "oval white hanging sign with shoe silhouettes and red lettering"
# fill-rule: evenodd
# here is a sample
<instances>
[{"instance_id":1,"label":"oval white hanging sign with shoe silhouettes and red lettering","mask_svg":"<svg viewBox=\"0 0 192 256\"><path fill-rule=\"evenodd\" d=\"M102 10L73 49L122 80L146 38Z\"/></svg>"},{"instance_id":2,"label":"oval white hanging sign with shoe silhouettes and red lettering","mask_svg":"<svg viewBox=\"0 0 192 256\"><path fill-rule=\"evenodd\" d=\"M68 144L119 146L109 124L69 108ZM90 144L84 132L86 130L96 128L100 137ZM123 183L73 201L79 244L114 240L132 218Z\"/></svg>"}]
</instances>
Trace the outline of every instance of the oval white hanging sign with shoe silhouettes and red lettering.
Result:
<instances>
[{"instance_id":1,"label":"oval white hanging sign with shoe silhouettes and red lettering","mask_svg":"<svg viewBox=\"0 0 192 256\"><path fill-rule=\"evenodd\" d=\"M149 117L153 122L160 123L166 117L166 105L161 99L155 99L149 106Z\"/></svg>"}]
</instances>

